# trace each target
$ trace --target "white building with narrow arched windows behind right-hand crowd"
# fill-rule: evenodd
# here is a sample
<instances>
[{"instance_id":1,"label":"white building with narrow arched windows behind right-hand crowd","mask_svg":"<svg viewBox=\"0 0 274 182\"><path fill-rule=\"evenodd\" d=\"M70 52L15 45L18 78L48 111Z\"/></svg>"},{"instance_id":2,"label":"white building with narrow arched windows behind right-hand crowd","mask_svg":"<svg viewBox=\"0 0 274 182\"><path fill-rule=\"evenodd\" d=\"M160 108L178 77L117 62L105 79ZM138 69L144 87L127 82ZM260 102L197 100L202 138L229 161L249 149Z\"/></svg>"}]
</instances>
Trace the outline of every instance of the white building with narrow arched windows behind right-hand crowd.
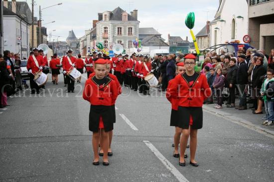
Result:
<instances>
[{"instance_id":1,"label":"white building with narrow arched windows behind right-hand crowd","mask_svg":"<svg viewBox=\"0 0 274 182\"><path fill-rule=\"evenodd\" d=\"M240 40L248 34L248 0L220 0L215 19L210 22L210 46Z\"/></svg>"}]
</instances>

